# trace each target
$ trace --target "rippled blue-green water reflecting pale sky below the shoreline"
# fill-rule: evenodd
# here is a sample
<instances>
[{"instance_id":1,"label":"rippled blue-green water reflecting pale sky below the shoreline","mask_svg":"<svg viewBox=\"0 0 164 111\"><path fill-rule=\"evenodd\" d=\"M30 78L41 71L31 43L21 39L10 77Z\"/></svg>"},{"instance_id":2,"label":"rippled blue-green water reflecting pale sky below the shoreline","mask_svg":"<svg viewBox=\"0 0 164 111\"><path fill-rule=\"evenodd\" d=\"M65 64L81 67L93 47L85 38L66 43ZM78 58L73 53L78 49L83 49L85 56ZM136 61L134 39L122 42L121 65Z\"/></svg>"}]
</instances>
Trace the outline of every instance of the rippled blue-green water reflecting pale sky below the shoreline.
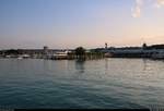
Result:
<instances>
[{"instance_id":1,"label":"rippled blue-green water reflecting pale sky below the shoreline","mask_svg":"<svg viewBox=\"0 0 164 111\"><path fill-rule=\"evenodd\" d=\"M0 59L0 107L164 107L164 62Z\"/></svg>"}]
</instances>

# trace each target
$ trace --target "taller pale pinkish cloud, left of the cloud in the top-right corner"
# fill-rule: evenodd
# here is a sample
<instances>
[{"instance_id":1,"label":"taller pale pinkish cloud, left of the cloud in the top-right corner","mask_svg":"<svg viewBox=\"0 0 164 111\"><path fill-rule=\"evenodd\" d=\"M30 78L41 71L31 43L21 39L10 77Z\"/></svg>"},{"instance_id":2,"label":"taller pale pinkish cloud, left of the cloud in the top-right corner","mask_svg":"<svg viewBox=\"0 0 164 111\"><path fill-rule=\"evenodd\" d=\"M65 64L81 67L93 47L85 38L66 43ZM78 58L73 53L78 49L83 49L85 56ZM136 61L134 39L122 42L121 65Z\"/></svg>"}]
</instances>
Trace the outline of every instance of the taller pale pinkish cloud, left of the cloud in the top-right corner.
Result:
<instances>
[{"instance_id":1,"label":"taller pale pinkish cloud, left of the cloud in the top-right corner","mask_svg":"<svg viewBox=\"0 0 164 111\"><path fill-rule=\"evenodd\" d=\"M141 8L143 5L143 0L136 0L136 7L132 9L132 16L140 17L141 16Z\"/></svg>"}]
</instances>

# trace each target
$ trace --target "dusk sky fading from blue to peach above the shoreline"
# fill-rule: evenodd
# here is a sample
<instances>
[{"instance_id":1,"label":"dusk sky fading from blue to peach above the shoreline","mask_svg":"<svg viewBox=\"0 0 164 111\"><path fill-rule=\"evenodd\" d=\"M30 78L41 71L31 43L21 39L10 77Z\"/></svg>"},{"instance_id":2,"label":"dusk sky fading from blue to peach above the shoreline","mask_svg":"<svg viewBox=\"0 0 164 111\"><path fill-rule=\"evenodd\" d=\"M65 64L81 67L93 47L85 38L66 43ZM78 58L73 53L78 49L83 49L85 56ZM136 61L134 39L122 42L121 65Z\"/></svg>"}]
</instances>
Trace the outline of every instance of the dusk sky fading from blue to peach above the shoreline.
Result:
<instances>
[{"instance_id":1,"label":"dusk sky fading from blue to peach above the shoreline","mask_svg":"<svg viewBox=\"0 0 164 111\"><path fill-rule=\"evenodd\" d=\"M164 44L164 0L0 0L0 49Z\"/></svg>"}]
</instances>

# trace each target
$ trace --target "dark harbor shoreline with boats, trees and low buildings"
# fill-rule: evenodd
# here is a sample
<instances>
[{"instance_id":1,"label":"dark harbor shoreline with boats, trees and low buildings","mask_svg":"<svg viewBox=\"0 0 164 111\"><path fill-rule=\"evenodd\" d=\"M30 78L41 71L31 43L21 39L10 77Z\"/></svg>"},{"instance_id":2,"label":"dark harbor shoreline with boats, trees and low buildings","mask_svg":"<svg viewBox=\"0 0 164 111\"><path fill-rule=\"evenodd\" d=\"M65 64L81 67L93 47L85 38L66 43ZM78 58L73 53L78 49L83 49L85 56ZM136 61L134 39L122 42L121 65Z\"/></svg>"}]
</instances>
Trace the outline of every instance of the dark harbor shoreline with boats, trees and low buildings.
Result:
<instances>
[{"instance_id":1,"label":"dark harbor shoreline with boats, trees and low buildings","mask_svg":"<svg viewBox=\"0 0 164 111\"><path fill-rule=\"evenodd\" d=\"M43 49L10 49L1 50L0 58L17 59L46 59L46 60L74 60L74 59L103 59L103 58L148 58L154 60L164 59L164 45L152 45L142 47L122 47L84 49L49 49L45 46Z\"/></svg>"}]
</instances>

